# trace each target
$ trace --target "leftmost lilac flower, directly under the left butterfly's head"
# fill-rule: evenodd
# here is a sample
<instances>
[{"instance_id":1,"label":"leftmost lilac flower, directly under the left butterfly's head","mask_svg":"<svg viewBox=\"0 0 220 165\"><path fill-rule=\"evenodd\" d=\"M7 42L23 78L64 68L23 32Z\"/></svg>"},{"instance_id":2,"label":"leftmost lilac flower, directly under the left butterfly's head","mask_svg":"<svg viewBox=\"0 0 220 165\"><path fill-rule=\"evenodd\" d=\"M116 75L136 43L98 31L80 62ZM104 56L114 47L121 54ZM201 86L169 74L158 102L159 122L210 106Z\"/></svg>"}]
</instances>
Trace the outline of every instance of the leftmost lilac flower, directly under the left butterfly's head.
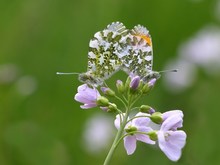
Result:
<instances>
[{"instance_id":1,"label":"leftmost lilac flower, directly under the left butterfly's head","mask_svg":"<svg viewBox=\"0 0 220 165\"><path fill-rule=\"evenodd\" d=\"M90 88L87 84L78 87L78 93L74 99L83 103L80 107L82 109L89 109L97 106L97 98L100 97L99 91L96 88Z\"/></svg>"}]
</instances>

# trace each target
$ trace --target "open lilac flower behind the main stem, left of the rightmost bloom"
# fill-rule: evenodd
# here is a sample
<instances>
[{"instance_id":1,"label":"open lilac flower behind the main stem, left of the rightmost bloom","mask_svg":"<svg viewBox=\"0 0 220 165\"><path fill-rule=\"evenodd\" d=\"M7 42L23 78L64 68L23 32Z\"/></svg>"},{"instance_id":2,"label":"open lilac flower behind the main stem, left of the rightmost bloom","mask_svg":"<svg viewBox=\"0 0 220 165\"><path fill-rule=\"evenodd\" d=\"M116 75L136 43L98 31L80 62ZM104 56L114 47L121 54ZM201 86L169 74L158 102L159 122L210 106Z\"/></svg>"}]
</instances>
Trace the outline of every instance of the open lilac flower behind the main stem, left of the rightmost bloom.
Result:
<instances>
[{"instance_id":1,"label":"open lilac flower behind the main stem, left of the rightmost bloom","mask_svg":"<svg viewBox=\"0 0 220 165\"><path fill-rule=\"evenodd\" d=\"M148 133L152 131L150 127L147 127L148 123L150 122L150 119L147 117L147 114L139 112L138 114L136 114L135 117L138 117L138 116L141 116L141 117L135 118L129 121L125 126L125 132L127 133L127 136L124 137L124 147L128 155L133 154L134 151L136 150L137 141L142 141L147 144L155 144L155 141L151 140L148 135L141 134L141 132ZM123 120L123 117L124 117L124 114L121 116L119 115L116 116L115 127L117 129L120 128L120 123L121 123L120 119Z\"/></svg>"}]
</instances>

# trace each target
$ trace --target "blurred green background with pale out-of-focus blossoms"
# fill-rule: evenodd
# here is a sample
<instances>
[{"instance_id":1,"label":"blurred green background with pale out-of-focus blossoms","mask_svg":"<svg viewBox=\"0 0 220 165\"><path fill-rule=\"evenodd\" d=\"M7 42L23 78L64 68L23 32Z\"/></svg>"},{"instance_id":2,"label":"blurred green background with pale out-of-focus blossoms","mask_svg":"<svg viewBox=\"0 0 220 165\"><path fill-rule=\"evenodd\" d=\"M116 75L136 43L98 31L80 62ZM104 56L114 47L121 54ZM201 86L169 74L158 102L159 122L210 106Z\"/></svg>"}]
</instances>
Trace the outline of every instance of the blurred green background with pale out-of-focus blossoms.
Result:
<instances>
[{"instance_id":1,"label":"blurred green background with pale out-of-focus blossoms","mask_svg":"<svg viewBox=\"0 0 220 165\"><path fill-rule=\"evenodd\" d=\"M112 142L114 115L73 100L88 42L113 21L146 26L154 70L166 73L139 104L184 111L187 145L177 163L138 143L112 164L220 164L220 0L1 0L0 164L98 165ZM124 73L107 83L114 87Z\"/></svg>"}]
</instances>

